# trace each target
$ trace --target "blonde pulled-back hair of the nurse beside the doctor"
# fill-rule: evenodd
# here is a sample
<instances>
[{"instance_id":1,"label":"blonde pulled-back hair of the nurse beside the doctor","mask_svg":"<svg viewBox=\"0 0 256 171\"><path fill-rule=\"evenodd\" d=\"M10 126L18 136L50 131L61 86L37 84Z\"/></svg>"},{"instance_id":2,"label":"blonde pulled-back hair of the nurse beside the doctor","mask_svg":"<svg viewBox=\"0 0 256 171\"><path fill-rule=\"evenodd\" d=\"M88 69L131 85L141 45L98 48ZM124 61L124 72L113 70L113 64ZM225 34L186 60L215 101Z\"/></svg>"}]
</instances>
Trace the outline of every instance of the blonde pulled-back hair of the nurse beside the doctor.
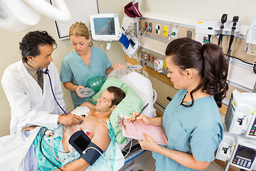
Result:
<instances>
[{"instance_id":1,"label":"blonde pulled-back hair of the nurse beside the doctor","mask_svg":"<svg viewBox=\"0 0 256 171\"><path fill-rule=\"evenodd\" d=\"M82 22L75 22L75 24L73 24L72 26L70 26L70 31L68 36L77 36L77 37L85 37L87 40L90 38L90 33L89 33L89 29L87 28L87 26L82 23ZM90 42L91 45L92 41Z\"/></svg>"}]
</instances>

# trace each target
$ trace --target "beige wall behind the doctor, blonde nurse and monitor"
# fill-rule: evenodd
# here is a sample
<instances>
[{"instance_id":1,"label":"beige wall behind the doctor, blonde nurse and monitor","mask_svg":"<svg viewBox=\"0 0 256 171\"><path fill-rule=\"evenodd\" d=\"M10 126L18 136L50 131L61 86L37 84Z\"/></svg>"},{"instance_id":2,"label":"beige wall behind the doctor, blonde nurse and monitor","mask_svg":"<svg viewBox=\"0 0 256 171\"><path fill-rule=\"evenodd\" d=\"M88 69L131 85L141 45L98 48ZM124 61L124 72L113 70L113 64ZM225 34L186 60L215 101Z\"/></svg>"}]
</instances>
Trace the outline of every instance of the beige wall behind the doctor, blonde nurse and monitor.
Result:
<instances>
[{"instance_id":1,"label":"beige wall behind the doctor, blonde nurse and monitor","mask_svg":"<svg viewBox=\"0 0 256 171\"><path fill-rule=\"evenodd\" d=\"M98 0L100 12L112 11L114 13L119 14L119 18L122 19L124 15L123 6L126 2L124 1L105 1L105 0ZM128 3L128 1L127 1ZM112 4L111 6L109 4ZM58 71L60 72L61 61L63 60L64 56L72 51L73 47L71 46L70 40L60 41L58 39L58 32L55 27L55 21L53 19L49 19L46 16L41 15L41 20L39 23L31 28L28 31L34 30L46 30L50 33L53 38L55 38L56 43L58 44L58 48L53 51L53 63L57 66ZM21 32L13 32L13 31L6 31L0 29L0 51L1 51L1 63L0 63L0 80L4 73L4 70L7 66L11 63L15 63L21 59L21 54L18 48L18 43L21 41L23 36L28 31L21 31ZM95 46L100 47L100 42L93 42ZM103 50L107 53L107 56L110 58L112 64L114 63L123 63L125 64L124 60L124 51L122 51L121 46L119 46L119 42L112 43L112 47L110 51L106 50L106 43L102 43ZM67 104L67 110L70 111L73 109L73 103L70 98L70 93L63 87L64 91L64 100ZM9 106L9 102L6 98L4 93L3 87L0 86L0 137L4 135L9 135L9 126L11 120L11 108Z\"/></svg>"}]
</instances>

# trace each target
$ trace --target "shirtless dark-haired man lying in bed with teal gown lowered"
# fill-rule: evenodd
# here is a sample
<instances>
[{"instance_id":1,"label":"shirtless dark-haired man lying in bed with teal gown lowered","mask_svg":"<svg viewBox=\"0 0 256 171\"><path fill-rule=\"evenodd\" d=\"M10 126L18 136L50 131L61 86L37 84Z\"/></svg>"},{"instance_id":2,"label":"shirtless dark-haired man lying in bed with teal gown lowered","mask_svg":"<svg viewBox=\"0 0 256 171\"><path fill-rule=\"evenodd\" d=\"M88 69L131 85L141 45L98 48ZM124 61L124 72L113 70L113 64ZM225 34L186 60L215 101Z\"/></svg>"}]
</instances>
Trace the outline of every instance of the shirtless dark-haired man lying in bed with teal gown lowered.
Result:
<instances>
[{"instance_id":1,"label":"shirtless dark-haired man lying in bed with teal gown lowered","mask_svg":"<svg viewBox=\"0 0 256 171\"><path fill-rule=\"evenodd\" d=\"M122 89L111 86L98 98L96 105L90 102L82 104L87 106L88 112L85 115L80 115L83 120L80 125L72 127L61 125L60 128L53 130L53 135L50 138L44 135L43 140L41 140L41 133L38 133L33 142L36 146L38 170L59 170L58 167L61 170L87 170L94 163L90 159L92 156L83 157L81 155L82 157L80 157L80 154L69 144L70 137L77 131L83 130L94 146L97 145L102 152L105 151L109 147L111 139L114 140L114 132L109 130L110 125L108 125L110 114L124 97L125 93ZM41 132L43 132L42 128ZM43 154L41 150L43 150ZM94 152L97 155L96 159L100 157L99 152L96 150ZM46 160L46 157L55 166Z\"/></svg>"}]
</instances>

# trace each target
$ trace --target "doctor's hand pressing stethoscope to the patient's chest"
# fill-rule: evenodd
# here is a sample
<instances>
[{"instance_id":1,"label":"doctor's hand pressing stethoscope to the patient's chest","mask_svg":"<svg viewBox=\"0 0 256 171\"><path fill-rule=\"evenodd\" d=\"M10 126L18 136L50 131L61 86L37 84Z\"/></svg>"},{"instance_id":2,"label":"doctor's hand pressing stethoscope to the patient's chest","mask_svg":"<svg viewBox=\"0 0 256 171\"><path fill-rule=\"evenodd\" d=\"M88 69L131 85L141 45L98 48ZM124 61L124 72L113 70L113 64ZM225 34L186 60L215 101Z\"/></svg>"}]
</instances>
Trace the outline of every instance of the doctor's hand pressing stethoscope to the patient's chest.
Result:
<instances>
[{"instance_id":1,"label":"doctor's hand pressing stethoscope to the patient's chest","mask_svg":"<svg viewBox=\"0 0 256 171\"><path fill-rule=\"evenodd\" d=\"M82 119L78 115L74 115L74 114L66 115L65 113L63 113L62 115L59 116L58 123L71 126L71 125L77 125L82 123Z\"/></svg>"}]
</instances>

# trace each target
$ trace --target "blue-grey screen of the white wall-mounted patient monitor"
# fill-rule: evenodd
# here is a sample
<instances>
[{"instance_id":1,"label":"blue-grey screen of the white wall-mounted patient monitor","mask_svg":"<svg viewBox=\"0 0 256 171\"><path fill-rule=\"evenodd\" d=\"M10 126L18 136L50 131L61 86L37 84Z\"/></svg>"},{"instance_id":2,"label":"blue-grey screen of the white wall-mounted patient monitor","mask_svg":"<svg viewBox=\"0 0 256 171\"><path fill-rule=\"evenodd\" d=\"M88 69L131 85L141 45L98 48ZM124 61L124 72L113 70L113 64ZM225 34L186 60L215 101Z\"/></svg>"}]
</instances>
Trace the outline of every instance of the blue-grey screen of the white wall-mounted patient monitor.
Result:
<instances>
[{"instance_id":1,"label":"blue-grey screen of the white wall-mounted patient monitor","mask_svg":"<svg viewBox=\"0 0 256 171\"><path fill-rule=\"evenodd\" d=\"M95 35L114 35L114 17L95 18Z\"/></svg>"}]
</instances>

